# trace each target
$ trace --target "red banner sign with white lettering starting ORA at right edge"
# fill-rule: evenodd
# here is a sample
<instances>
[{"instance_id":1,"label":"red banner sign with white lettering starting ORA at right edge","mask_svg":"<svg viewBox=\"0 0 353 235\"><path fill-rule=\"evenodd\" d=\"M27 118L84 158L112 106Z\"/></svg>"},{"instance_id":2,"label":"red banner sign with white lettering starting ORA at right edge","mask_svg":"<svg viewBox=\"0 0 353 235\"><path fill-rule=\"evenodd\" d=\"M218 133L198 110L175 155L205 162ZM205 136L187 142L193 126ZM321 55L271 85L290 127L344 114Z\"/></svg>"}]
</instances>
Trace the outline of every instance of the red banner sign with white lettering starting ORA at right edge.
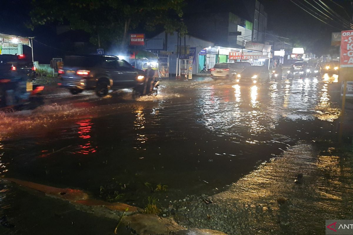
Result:
<instances>
[{"instance_id":1,"label":"red banner sign with white lettering starting ORA at right edge","mask_svg":"<svg viewBox=\"0 0 353 235\"><path fill-rule=\"evenodd\" d=\"M340 67L353 67L353 30L341 31Z\"/></svg>"}]
</instances>

